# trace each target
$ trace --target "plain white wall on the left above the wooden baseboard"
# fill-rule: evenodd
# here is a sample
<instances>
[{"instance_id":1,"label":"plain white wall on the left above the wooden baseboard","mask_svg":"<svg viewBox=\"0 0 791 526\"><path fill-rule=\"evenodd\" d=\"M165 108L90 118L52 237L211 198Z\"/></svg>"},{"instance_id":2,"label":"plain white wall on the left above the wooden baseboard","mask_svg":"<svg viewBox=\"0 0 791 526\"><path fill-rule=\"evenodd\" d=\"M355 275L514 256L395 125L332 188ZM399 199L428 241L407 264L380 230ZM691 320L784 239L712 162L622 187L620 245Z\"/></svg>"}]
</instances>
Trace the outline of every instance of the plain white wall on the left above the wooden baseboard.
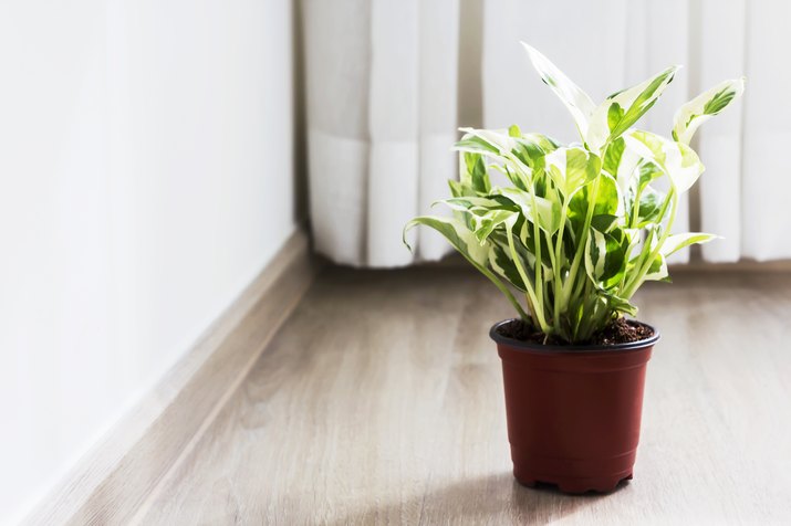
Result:
<instances>
[{"instance_id":1,"label":"plain white wall on the left above the wooden baseboard","mask_svg":"<svg viewBox=\"0 0 791 526\"><path fill-rule=\"evenodd\" d=\"M0 4L0 523L293 232L291 9Z\"/></svg>"}]
</instances>

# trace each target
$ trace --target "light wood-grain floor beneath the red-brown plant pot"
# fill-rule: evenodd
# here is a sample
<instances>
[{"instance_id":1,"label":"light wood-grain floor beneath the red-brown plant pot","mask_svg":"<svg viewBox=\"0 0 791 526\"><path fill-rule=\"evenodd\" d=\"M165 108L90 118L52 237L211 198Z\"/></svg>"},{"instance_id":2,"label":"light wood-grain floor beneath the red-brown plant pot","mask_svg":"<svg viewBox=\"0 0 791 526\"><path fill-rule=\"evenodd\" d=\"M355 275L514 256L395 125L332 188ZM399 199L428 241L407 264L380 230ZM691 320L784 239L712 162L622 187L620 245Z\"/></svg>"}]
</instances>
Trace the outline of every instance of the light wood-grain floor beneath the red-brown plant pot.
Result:
<instances>
[{"instance_id":1,"label":"light wood-grain floor beneath the red-brown plant pot","mask_svg":"<svg viewBox=\"0 0 791 526\"><path fill-rule=\"evenodd\" d=\"M488 282L329 269L139 522L791 524L791 275L675 281L636 298L663 339L613 494L513 481Z\"/></svg>"}]
</instances>

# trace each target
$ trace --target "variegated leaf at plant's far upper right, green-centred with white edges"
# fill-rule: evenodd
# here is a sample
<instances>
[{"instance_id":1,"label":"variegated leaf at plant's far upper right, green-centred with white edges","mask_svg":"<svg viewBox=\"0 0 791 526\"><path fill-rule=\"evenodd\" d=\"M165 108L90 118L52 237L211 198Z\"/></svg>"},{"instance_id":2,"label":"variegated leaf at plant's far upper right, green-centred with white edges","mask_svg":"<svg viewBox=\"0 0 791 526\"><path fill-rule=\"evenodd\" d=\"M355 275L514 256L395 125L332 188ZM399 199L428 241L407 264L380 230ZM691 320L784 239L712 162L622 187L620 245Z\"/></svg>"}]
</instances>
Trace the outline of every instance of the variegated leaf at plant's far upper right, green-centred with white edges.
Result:
<instances>
[{"instance_id":1,"label":"variegated leaf at plant's far upper right, green-centred with white edges","mask_svg":"<svg viewBox=\"0 0 791 526\"><path fill-rule=\"evenodd\" d=\"M745 93L745 77L725 81L684 104L673 118L673 138L688 145L706 120L719 114Z\"/></svg>"}]
</instances>

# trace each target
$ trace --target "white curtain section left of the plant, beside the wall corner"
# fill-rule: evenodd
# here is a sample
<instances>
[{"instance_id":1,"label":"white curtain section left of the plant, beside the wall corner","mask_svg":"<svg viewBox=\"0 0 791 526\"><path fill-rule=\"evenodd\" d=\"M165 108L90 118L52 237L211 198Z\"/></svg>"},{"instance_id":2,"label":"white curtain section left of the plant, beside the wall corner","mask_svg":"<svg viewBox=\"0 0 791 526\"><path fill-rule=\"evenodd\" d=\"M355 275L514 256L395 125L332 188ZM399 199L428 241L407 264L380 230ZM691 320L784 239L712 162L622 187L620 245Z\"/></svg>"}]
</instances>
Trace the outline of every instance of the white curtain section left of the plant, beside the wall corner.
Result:
<instances>
[{"instance_id":1,"label":"white curtain section left of the plant, beside the wall corner","mask_svg":"<svg viewBox=\"0 0 791 526\"><path fill-rule=\"evenodd\" d=\"M316 250L355 266L436 260L404 224L456 176L458 0L305 0L310 214Z\"/></svg>"}]
</instances>

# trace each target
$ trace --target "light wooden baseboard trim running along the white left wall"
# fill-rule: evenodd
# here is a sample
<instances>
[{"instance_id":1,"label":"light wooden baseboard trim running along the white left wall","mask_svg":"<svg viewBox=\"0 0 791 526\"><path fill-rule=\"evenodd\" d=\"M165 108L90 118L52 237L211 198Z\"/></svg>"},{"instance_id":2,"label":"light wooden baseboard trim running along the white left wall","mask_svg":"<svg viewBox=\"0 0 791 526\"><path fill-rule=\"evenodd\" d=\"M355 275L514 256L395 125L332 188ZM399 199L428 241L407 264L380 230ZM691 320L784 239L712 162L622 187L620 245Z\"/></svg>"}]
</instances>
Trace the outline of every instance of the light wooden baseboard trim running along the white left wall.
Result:
<instances>
[{"instance_id":1,"label":"light wooden baseboard trim running along the white left wall","mask_svg":"<svg viewBox=\"0 0 791 526\"><path fill-rule=\"evenodd\" d=\"M134 523L247 376L321 266L299 229L198 344L83 456L24 524Z\"/></svg>"}]
</instances>

